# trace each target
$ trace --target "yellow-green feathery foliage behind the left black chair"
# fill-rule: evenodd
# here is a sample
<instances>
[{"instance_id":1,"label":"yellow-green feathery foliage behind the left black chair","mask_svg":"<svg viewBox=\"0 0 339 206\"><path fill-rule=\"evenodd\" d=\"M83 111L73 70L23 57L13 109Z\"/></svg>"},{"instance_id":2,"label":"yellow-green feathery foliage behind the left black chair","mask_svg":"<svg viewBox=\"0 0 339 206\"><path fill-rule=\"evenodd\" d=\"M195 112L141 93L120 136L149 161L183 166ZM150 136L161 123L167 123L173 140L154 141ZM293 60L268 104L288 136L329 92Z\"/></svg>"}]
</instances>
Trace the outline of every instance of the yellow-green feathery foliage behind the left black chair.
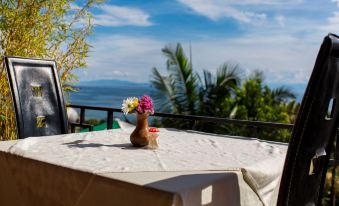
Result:
<instances>
[{"instance_id":1,"label":"yellow-green feathery foliage behind the left black chair","mask_svg":"<svg viewBox=\"0 0 339 206\"><path fill-rule=\"evenodd\" d=\"M89 8L97 2L80 8L67 0L2 0L0 55L53 59L64 91L72 90L72 70L86 67ZM2 58L0 65L0 140L9 140L16 138L15 119Z\"/></svg>"}]
</instances>

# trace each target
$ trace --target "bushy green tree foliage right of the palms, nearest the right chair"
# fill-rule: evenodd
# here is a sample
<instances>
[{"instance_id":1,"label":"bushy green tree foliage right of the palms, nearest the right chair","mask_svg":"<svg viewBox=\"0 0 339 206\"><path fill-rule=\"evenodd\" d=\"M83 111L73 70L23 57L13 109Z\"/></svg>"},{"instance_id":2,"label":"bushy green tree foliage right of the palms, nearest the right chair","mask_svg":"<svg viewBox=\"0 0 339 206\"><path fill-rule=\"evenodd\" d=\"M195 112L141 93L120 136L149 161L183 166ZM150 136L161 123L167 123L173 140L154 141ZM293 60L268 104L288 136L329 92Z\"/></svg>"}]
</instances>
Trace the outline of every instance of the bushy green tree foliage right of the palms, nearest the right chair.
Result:
<instances>
[{"instance_id":1,"label":"bushy green tree foliage right of the palms, nearest the right chair","mask_svg":"<svg viewBox=\"0 0 339 206\"><path fill-rule=\"evenodd\" d=\"M295 94L286 87L271 89L265 85L264 74L260 71L243 81L233 101L236 119L279 123L294 123L298 110L289 108L294 103L299 105ZM290 138L290 132L282 129L243 128L240 134L282 142L288 142Z\"/></svg>"}]
</instances>

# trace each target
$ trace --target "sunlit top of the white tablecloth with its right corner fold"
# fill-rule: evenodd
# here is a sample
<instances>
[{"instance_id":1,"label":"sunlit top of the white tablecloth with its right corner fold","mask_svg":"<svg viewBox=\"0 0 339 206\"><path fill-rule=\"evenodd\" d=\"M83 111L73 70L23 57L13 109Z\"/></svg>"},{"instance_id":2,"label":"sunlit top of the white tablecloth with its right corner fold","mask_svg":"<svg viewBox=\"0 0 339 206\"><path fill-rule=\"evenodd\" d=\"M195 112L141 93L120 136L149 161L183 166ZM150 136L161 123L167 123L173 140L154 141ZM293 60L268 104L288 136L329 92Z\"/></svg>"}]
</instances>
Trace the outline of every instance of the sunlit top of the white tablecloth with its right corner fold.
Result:
<instances>
[{"instance_id":1,"label":"sunlit top of the white tablecloth with its right corner fold","mask_svg":"<svg viewBox=\"0 0 339 206\"><path fill-rule=\"evenodd\" d=\"M248 184L264 205L276 198L285 144L161 128L158 149L136 149L129 143L132 129L30 137L17 141L7 151L110 178L122 175L123 181L145 181L149 185L155 182L154 178L140 174L153 173L154 177L160 175L163 179L166 174L173 177L175 173L234 172L242 174L241 181ZM133 181L133 178L143 180ZM184 196L183 202L189 204Z\"/></svg>"}]
</instances>

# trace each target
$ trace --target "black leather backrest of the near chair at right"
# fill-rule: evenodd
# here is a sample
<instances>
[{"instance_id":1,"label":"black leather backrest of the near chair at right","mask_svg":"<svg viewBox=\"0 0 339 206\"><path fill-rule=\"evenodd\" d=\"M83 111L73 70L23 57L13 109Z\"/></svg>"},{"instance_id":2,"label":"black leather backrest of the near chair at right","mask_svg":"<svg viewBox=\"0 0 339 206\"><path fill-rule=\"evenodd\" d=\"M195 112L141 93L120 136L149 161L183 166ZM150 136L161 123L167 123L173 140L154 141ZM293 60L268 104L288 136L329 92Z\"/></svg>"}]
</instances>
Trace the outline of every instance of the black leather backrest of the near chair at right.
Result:
<instances>
[{"instance_id":1,"label":"black leather backrest of the near chair at right","mask_svg":"<svg viewBox=\"0 0 339 206\"><path fill-rule=\"evenodd\" d=\"M277 205L320 205L338 127L338 102L339 38L329 34L321 45L294 124Z\"/></svg>"}]
</instances>

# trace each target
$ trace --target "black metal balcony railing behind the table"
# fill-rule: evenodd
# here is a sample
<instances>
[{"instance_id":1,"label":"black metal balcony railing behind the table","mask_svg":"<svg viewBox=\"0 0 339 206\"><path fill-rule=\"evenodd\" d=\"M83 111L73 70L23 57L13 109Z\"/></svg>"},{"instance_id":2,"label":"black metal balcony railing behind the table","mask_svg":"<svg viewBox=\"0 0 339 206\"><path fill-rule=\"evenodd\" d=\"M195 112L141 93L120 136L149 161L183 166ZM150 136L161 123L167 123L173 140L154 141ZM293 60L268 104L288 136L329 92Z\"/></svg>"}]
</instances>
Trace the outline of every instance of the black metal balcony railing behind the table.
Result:
<instances>
[{"instance_id":1,"label":"black metal balcony railing behind the table","mask_svg":"<svg viewBox=\"0 0 339 206\"><path fill-rule=\"evenodd\" d=\"M86 106L86 105L75 105L75 104L70 104L67 107L80 109L80 121L78 123L71 123L72 132L75 131L75 127L89 128L89 131L93 130L93 125L89 125L85 123L86 110L96 110L96 111L106 112L107 113L107 116L106 116L107 129L112 129L114 113L115 112L122 113L121 109L112 108L112 107L98 107L98 106ZM192 129L195 128L195 125L197 124L198 121L233 124L233 125L238 125L238 126L251 127L251 128L254 128L252 137L256 137L259 139L260 139L260 137L258 136L259 129L275 128L275 129L288 129L290 131L293 129L293 124L283 124L283 123L274 123L274 122L238 120L238 119L207 117L207 116L197 116L197 115L170 114L170 113L161 113L161 112L155 112L153 116L192 121L193 122ZM339 134L339 129L337 130L337 137L339 136L338 134ZM339 145L339 138L336 138L336 142L334 143L335 149L333 152L333 158L331 158L329 161L329 165L332 166L332 170L331 170L332 179L331 179L331 188L330 188L330 204L331 205L335 205L336 167L339 166L339 147L336 147L336 145Z\"/></svg>"}]
</instances>

